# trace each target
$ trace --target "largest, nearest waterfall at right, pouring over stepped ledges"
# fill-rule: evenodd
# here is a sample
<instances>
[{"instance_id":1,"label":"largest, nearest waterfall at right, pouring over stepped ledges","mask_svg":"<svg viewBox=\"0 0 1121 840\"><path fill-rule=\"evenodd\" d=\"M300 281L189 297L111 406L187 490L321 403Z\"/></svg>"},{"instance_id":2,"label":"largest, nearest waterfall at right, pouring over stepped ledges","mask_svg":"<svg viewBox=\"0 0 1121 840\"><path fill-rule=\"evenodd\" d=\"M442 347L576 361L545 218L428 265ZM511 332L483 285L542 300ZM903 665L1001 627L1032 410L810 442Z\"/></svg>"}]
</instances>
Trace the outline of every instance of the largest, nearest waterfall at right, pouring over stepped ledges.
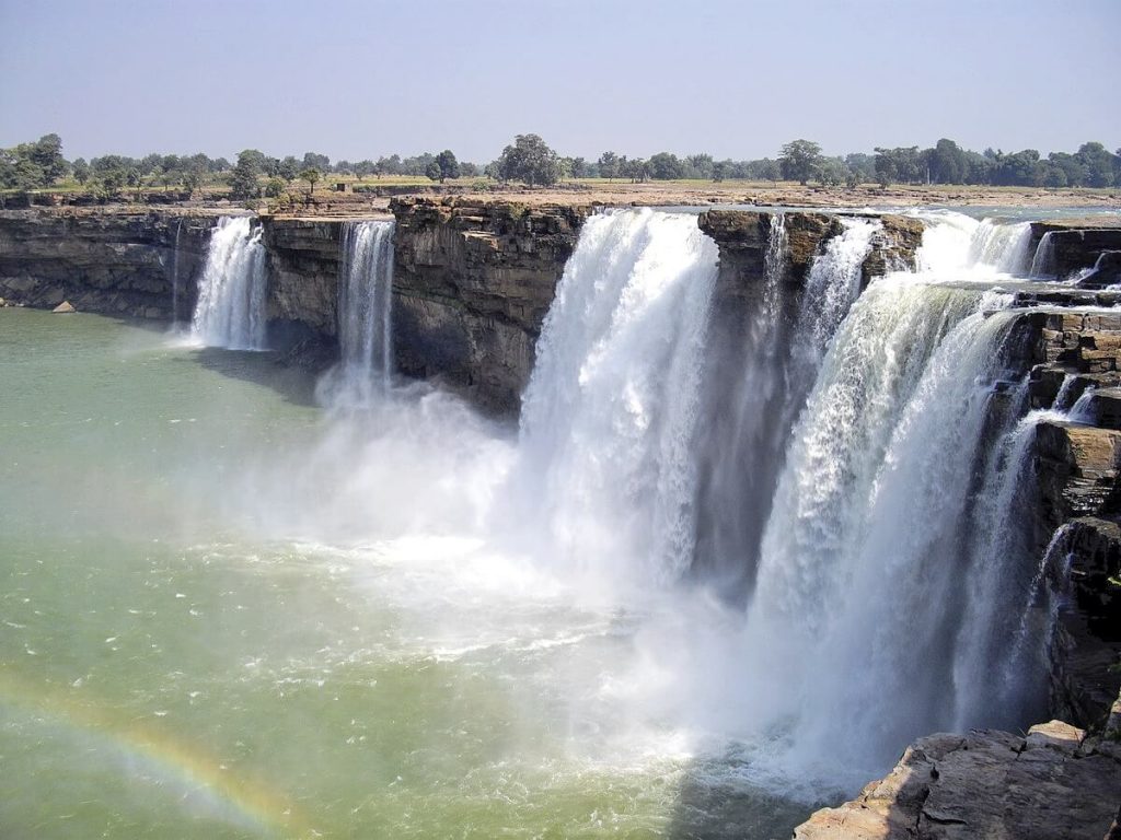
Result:
<instances>
[{"instance_id":1,"label":"largest, nearest waterfall at right, pouring over stepped ledges","mask_svg":"<svg viewBox=\"0 0 1121 840\"><path fill-rule=\"evenodd\" d=\"M797 721L796 753L882 767L954 722L955 605L985 573L969 562L971 486L1011 323L984 311L991 302L980 290L881 279L822 364L744 636L747 666L766 681L753 689L759 710Z\"/></svg>"}]
</instances>

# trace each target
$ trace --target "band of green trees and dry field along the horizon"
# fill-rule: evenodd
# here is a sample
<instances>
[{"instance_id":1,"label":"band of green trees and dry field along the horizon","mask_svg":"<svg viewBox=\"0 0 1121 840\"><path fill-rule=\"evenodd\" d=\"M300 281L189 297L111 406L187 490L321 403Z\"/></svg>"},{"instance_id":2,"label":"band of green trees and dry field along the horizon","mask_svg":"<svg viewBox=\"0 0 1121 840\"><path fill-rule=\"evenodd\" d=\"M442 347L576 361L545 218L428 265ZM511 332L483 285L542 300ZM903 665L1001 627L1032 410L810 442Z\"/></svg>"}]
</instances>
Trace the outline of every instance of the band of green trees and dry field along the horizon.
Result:
<instances>
[{"instance_id":1,"label":"band of green trees and dry field along the horizon","mask_svg":"<svg viewBox=\"0 0 1121 840\"><path fill-rule=\"evenodd\" d=\"M235 200L261 196L294 200L299 181L307 184L309 198L315 185L330 176L350 179L430 179L444 183L456 178L488 178L520 181L529 186L549 186L563 179L603 178L640 183L647 180L796 180L824 186L845 184L945 184L1025 187L1113 187L1121 186L1121 149L1111 152L1100 142L1083 143L1076 151L1050 152L1044 157L1035 149L1017 152L961 148L942 139L928 149L917 146L877 148L874 153L855 152L844 157L822 153L818 143L791 140L776 158L759 160L716 160L711 155L678 157L658 152L649 158L633 158L605 151L597 160L557 155L537 134L519 134L499 158L485 166L460 161L451 149L433 155L402 158L399 155L358 162L332 162L326 155L305 152L297 158L270 157L257 149L245 149L237 162L225 158L196 155L158 155L130 158L105 155L68 161L62 153L58 134L46 134L35 142L0 149L0 189L31 192L58 189L83 192L94 198L120 197L129 189L180 190L189 198L200 188L228 194ZM485 181L484 181L485 183ZM478 186L479 181L475 181Z\"/></svg>"}]
</instances>

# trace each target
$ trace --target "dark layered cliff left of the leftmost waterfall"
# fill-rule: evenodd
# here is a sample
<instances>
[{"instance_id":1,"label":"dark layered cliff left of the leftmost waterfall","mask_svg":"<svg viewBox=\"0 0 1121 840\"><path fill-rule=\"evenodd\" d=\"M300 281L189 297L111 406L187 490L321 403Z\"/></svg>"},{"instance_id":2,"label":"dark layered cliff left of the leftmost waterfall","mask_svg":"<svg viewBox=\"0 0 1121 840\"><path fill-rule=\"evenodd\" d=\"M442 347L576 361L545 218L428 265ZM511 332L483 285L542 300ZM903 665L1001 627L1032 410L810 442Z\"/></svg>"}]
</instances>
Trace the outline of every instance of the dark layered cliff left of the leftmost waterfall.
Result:
<instances>
[{"instance_id":1,"label":"dark layered cliff left of the leftmost waterfall","mask_svg":"<svg viewBox=\"0 0 1121 840\"><path fill-rule=\"evenodd\" d=\"M68 209L0 213L0 297L11 304L189 318L213 216ZM178 245L178 248L176 248Z\"/></svg>"}]
</instances>

